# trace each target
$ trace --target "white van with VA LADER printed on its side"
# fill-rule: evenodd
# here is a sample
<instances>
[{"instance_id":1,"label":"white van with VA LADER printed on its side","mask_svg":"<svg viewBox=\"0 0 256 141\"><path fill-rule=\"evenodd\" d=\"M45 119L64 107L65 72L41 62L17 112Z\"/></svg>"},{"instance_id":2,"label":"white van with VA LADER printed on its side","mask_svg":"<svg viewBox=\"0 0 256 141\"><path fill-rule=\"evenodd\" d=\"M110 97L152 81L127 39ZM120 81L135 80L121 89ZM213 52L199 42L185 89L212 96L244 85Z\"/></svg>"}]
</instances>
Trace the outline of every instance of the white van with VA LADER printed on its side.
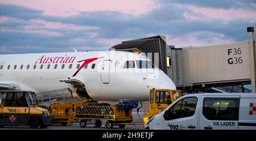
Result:
<instances>
[{"instance_id":1,"label":"white van with VA LADER printed on its side","mask_svg":"<svg viewBox=\"0 0 256 141\"><path fill-rule=\"evenodd\" d=\"M180 97L148 119L146 129L254 129L256 93L197 93Z\"/></svg>"}]
</instances>

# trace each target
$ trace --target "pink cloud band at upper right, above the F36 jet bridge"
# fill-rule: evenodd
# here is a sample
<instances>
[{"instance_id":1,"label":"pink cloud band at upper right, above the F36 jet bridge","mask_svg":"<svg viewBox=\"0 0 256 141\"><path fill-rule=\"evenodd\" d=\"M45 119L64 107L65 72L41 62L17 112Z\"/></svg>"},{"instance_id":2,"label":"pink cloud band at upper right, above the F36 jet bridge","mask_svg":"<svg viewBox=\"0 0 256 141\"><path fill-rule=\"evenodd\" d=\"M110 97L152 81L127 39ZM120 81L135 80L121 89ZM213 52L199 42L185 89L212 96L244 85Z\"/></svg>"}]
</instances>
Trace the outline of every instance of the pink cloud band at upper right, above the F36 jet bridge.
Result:
<instances>
[{"instance_id":1,"label":"pink cloud band at upper right, above the F36 jet bridge","mask_svg":"<svg viewBox=\"0 0 256 141\"><path fill-rule=\"evenodd\" d=\"M232 19L253 19L256 20L256 10L248 10L242 8L204 8L191 5L184 5L186 8L192 10L192 13L185 12L184 16L190 20L208 20L208 19L222 19L228 22Z\"/></svg>"}]
</instances>

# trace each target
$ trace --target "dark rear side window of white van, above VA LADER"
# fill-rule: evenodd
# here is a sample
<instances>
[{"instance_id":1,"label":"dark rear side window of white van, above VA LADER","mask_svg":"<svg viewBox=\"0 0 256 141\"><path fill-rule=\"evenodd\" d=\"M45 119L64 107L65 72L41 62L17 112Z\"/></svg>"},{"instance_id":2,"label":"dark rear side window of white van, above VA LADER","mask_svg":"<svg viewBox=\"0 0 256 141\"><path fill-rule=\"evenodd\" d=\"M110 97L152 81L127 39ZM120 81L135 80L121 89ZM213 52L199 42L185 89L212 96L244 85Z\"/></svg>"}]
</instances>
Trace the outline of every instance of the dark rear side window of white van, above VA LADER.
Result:
<instances>
[{"instance_id":1,"label":"dark rear side window of white van, above VA LADER","mask_svg":"<svg viewBox=\"0 0 256 141\"><path fill-rule=\"evenodd\" d=\"M209 120L238 121L238 98L204 98L203 115Z\"/></svg>"}]
</instances>

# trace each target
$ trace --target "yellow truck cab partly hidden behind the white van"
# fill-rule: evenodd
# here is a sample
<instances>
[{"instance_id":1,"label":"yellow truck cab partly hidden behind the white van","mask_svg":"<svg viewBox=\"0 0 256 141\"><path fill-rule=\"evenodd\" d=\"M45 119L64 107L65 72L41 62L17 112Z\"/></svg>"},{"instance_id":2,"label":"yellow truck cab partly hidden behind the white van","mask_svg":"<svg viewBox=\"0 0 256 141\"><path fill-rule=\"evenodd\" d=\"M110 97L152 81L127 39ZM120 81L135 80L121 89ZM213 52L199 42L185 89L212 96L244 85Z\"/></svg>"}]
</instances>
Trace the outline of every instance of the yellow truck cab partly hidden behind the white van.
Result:
<instances>
[{"instance_id":1,"label":"yellow truck cab partly hidden behind the white van","mask_svg":"<svg viewBox=\"0 0 256 141\"><path fill-rule=\"evenodd\" d=\"M179 99L182 96L180 90L172 89L150 89L150 96L148 100L148 111L144 112L143 122L161 113L172 102Z\"/></svg>"}]
</instances>

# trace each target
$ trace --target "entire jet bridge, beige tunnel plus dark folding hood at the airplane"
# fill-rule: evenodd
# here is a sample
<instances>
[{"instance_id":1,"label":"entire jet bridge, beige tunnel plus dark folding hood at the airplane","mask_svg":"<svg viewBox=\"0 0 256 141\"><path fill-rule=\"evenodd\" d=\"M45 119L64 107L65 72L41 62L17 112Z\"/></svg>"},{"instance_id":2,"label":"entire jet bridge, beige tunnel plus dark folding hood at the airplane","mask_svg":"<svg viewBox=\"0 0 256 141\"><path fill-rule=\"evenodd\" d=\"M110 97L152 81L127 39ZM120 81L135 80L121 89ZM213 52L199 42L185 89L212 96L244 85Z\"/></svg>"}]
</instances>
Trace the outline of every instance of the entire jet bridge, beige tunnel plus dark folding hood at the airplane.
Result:
<instances>
[{"instance_id":1,"label":"entire jet bridge, beige tunnel plus dark folding hood at the airplane","mask_svg":"<svg viewBox=\"0 0 256 141\"><path fill-rule=\"evenodd\" d=\"M176 49L162 35L123 41L110 49L152 55L184 93L255 92L255 46L253 27L248 41L236 44ZM154 54L158 53L158 54Z\"/></svg>"}]
</instances>

